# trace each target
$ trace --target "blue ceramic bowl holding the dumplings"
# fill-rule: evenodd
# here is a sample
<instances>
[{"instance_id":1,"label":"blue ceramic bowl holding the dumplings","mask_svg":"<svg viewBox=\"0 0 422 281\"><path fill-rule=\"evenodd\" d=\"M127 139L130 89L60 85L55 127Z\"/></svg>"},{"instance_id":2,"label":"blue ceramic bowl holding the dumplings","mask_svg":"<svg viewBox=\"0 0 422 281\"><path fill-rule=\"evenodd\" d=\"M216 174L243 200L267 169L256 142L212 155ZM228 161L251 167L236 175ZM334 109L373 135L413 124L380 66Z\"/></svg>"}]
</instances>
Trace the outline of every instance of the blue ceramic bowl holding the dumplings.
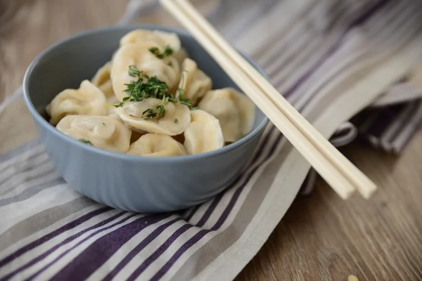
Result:
<instances>
[{"instance_id":1,"label":"blue ceramic bowl holding the dumplings","mask_svg":"<svg viewBox=\"0 0 422 281\"><path fill-rule=\"evenodd\" d=\"M239 175L268 122L260 110L256 110L252 131L240 141L212 152L180 157L136 157L94 148L65 136L46 121L45 107L54 96L91 79L110 60L120 38L136 28L179 34L189 56L211 77L214 89L238 88L200 44L182 30L145 25L106 27L72 36L38 55L25 74L25 103L51 162L60 176L82 194L127 211L191 207L221 192Z\"/></svg>"}]
</instances>

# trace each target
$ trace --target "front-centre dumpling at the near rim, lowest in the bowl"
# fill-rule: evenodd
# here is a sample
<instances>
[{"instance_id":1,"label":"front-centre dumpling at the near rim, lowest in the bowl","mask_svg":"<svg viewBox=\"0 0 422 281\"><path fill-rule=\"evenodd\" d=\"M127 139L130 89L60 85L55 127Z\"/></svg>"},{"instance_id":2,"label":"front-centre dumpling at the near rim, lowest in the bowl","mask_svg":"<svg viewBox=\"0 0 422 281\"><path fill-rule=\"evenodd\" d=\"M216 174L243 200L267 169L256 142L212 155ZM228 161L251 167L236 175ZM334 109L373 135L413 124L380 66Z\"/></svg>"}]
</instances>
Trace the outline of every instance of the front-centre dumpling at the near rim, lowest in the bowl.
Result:
<instances>
[{"instance_id":1,"label":"front-centre dumpling at the near rim, lowest in the bowl","mask_svg":"<svg viewBox=\"0 0 422 281\"><path fill-rule=\"evenodd\" d=\"M147 133L130 145L127 154L142 156L186 155L186 149L171 136Z\"/></svg>"}]
</instances>

